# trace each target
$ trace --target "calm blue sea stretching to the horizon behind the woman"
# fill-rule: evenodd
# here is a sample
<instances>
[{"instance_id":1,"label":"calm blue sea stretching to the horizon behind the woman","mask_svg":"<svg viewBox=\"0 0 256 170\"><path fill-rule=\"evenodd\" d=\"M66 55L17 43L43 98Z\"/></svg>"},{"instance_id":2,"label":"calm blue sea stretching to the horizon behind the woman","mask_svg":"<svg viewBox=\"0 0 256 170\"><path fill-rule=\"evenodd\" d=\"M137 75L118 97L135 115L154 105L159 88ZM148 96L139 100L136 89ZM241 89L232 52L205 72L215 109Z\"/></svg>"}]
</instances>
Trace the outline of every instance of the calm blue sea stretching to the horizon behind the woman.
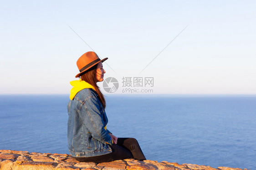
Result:
<instances>
[{"instance_id":1,"label":"calm blue sea stretching to the horizon behind the woman","mask_svg":"<svg viewBox=\"0 0 256 170\"><path fill-rule=\"evenodd\" d=\"M107 128L149 160L256 170L255 95L107 95ZM0 149L69 154L68 95L1 95Z\"/></svg>"}]
</instances>

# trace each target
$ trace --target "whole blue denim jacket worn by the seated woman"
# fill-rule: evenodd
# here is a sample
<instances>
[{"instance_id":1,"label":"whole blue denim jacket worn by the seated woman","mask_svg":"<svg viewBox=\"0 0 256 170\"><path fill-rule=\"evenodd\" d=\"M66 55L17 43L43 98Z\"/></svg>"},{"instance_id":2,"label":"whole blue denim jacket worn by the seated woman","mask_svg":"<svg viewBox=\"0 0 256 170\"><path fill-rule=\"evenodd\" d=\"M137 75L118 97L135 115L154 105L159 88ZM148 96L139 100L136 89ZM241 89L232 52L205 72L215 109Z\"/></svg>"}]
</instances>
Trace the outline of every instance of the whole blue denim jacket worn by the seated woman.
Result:
<instances>
[{"instance_id":1,"label":"whole blue denim jacket worn by the seated woman","mask_svg":"<svg viewBox=\"0 0 256 170\"><path fill-rule=\"evenodd\" d=\"M67 138L70 154L75 157L90 157L111 153L110 131L104 127L108 117L97 92L92 88L79 91L67 105Z\"/></svg>"}]
</instances>

